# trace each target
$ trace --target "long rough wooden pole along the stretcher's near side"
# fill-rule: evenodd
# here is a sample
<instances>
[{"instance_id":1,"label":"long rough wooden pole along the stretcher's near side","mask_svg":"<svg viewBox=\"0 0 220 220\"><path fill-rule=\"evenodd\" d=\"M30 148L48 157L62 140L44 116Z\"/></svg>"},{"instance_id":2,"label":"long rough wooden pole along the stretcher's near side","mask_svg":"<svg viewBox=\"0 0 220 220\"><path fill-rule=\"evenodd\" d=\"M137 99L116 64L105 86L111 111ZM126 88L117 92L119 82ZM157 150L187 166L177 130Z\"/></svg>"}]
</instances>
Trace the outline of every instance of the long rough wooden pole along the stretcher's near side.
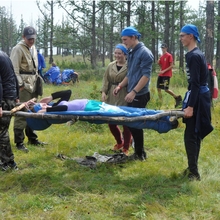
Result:
<instances>
[{"instance_id":1,"label":"long rough wooden pole along the stretcher's near side","mask_svg":"<svg viewBox=\"0 0 220 220\"><path fill-rule=\"evenodd\" d=\"M3 117L4 116L19 116L25 118L40 118L40 119L66 119L66 120L100 120L100 121L112 121L112 122L134 122L134 121L145 121L145 120L157 120L164 116L170 116L170 121L175 121L177 118L183 117L183 111L165 111L155 115L144 115L144 116L135 116L135 117L125 117L125 116L118 116L118 117L109 117L109 116L81 116L81 115L58 115L58 114L45 114L45 113L31 113L31 112L15 112L12 113L10 111L2 111Z\"/></svg>"}]
</instances>

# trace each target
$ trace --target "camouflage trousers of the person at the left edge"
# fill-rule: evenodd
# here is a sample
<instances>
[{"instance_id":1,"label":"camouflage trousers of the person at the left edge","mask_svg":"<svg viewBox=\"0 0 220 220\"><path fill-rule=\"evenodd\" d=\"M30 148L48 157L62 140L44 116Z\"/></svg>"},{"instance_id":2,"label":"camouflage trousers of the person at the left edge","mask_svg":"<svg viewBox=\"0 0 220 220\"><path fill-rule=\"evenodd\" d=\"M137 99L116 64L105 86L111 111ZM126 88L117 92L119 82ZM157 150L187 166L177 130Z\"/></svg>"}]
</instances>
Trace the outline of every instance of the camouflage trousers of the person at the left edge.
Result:
<instances>
[{"instance_id":1,"label":"camouflage trousers of the person at the left edge","mask_svg":"<svg viewBox=\"0 0 220 220\"><path fill-rule=\"evenodd\" d=\"M15 106L15 102L2 101L2 110L11 110ZM2 163L7 163L14 160L14 154L11 149L9 137L9 125L11 116L3 116L0 118L0 160Z\"/></svg>"}]
</instances>

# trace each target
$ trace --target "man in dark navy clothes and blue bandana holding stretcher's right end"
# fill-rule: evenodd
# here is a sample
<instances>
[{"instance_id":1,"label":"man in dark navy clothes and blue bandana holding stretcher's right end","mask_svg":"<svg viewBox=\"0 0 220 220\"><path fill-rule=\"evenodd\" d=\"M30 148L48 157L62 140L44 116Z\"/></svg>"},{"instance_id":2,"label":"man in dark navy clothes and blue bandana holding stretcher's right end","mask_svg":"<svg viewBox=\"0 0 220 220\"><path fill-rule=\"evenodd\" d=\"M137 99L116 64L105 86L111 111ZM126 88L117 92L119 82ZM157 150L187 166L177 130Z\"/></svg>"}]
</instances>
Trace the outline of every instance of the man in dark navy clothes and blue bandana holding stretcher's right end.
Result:
<instances>
[{"instance_id":1,"label":"man in dark navy clothes and blue bandana holding stretcher's right end","mask_svg":"<svg viewBox=\"0 0 220 220\"><path fill-rule=\"evenodd\" d=\"M201 140L212 132L211 100L208 88L208 66L202 51L197 47L200 43L199 32L195 25L185 25L179 39L188 52L185 55L188 91L183 100L186 124L184 143L188 167L183 172L189 180L200 180L198 159Z\"/></svg>"}]
</instances>

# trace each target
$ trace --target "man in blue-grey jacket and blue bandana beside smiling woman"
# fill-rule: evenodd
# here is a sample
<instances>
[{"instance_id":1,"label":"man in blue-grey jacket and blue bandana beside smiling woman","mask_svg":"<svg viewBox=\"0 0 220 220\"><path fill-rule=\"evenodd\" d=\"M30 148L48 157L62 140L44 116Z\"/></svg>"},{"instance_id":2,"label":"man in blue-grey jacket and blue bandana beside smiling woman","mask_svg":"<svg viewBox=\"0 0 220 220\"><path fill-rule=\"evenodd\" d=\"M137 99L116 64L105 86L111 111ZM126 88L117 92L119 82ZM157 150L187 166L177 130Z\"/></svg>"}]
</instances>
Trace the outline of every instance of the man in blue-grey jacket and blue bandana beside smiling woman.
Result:
<instances>
[{"instance_id":1,"label":"man in blue-grey jacket and blue bandana beside smiling woman","mask_svg":"<svg viewBox=\"0 0 220 220\"><path fill-rule=\"evenodd\" d=\"M121 32L122 43L130 49L128 53L128 73L121 83L114 89L117 95L127 87L125 101L129 107L145 108L150 100L149 83L151 78L154 56L152 52L139 42L141 34L134 27L127 27ZM133 160L145 160L144 131L129 127L134 140L135 153L130 156Z\"/></svg>"}]
</instances>

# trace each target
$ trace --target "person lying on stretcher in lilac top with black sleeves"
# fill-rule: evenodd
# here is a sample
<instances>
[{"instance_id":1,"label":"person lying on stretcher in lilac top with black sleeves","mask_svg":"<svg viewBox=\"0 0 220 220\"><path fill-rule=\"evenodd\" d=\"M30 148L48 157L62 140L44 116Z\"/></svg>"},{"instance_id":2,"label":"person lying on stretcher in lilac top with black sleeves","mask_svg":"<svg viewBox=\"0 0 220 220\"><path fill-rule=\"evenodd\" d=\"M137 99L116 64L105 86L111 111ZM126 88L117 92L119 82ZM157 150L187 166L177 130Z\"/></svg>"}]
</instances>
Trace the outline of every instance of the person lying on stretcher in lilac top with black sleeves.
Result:
<instances>
[{"instance_id":1,"label":"person lying on stretcher in lilac top with black sleeves","mask_svg":"<svg viewBox=\"0 0 220 220\"><path fill-rule=\"evenodd\" d=\"M39 103L28 101L26 107L33 112L57 112L57 111L108 111L108 112L124 112L123 109L109 105L104 102L89 100L89 99L74 99L70 100L72 91L64 90L54 92L51 96L45 97ZM53 103L54 99L59 99Z\"/></svg>"}]
</instances>

